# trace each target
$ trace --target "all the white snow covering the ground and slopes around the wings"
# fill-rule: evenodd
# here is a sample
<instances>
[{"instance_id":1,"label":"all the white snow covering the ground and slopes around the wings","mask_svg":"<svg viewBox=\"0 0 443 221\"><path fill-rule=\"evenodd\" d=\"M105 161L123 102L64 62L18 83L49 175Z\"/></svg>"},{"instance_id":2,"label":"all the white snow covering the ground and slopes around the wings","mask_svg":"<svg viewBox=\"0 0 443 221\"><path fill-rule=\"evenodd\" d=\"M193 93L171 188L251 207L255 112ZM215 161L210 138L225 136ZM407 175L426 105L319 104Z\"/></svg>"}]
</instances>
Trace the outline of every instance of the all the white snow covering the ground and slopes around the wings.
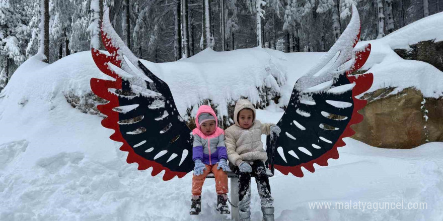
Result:
<instances>
[{"instance_id":1,"label":"all the white snow covering the ground and slopes around the wings","mask_svg":"<svg viewBox=\"0 0 443 221\"><path fill-rule=\"evenodd\" d=\"M443 24L435 21L443 21L443 14L414 24ZM414 24L391 35L405 36L402 32L413 30ZM370 90L388 86L388 82L390 86L416 86L426 96L441 94L443 73L429 64L396 57L391 40L385 40L394 38L391 35L371 41L372 57L367 67L374 72L375 86ZM439 36L443 36L443 28L427 30L419 40ZM408 43L416 40L409 39ZM143 63L170 85L183 115L186 108L205 97L218 102L248 93L254 97L256 86L272 84L263 79L283 74L286 83L279 86L281 105L287 102L296 80L323 54L253 48L203 51L178 62ZM402 71L396 71L399 69ZM417 70L423 71L411 78ZM245 76L250 78L242 82ZM91 77L105 75L95 66L90 52L76 53L50 65L31 58L0 94L0 220L229 218L214 209L213 180L204 185L202 213L190 217L191 174L165 182L162 173L152 177L151 169L138 171L137 165L126 163L126 152L119 151L120 144L109 139L112 131L101 126L99 116L83 114L66 102L67 93L89 93ZM215 89L210 90L209 85ZM276 123L282 114L273 103L257 110L257 118L263 122ZM276 172L270 179L276 220L443 219L443 143L387 150L349 138L345 142L347 145L339 148L340 158L330 160L327 167L316 167L315 173L304 171L305 177L297 178ZM259 197L252 186L252 220L259 220ZM332 208L335 202L349 200L366 203L366 207ZM402 201L404 207L426 203L427 208L367 208L367 203ZM310 208L309 203L314 202L333 204L329 209Z\"/></svg>"}]
</instances>

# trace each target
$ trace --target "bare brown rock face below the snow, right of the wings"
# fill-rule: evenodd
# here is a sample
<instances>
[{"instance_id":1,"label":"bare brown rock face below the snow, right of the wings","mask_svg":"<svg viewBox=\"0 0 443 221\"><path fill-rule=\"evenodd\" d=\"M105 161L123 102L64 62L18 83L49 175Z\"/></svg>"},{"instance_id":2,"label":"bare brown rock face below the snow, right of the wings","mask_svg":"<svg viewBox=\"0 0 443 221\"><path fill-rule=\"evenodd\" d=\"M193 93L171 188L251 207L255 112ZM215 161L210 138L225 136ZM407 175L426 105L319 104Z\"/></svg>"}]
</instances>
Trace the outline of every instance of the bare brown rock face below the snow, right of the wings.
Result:
<instances>
[{"instance_id":1,"label":"bare brown rock face below the snow, right of the wings","mask_svg":"<svg viewBox=\"0 0 443 221\"><path fill-rule=\"evenodd\" d=\"M356 132L352 138L375 147L400 149L443 141L443 97L423 98L414 88L389 95L394 89L382 88L361 97L368 103L359 111L363 121L351 126Z\"/></svg>"}]
</instances>

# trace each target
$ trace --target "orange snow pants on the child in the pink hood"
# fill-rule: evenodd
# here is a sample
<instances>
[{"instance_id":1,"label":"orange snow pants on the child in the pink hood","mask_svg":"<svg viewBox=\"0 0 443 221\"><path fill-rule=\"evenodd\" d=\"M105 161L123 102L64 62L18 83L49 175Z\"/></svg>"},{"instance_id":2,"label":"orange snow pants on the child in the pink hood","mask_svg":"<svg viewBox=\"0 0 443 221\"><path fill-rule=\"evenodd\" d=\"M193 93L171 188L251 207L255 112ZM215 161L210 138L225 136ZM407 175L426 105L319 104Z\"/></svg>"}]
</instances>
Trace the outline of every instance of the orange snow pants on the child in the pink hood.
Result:
<instances>
[{"instance_id":1,"label":"orange snow pants on the child in the pink hood","mask_svg":"<svg viewBox=\"0 0 443 221\"><path fill-rule=\"evenodd\" d=\"M206 175L208 175L210 172L212 172L215 177L215 192L217 192L217 194L228 193L228 174L221 168L217 170L217 165L218 164L205 164L206 169L203 170L203 174L198 176L194 174L192 175L192 195L201 195L201 187L203 187Z\"/></svg>"}]
</instances>

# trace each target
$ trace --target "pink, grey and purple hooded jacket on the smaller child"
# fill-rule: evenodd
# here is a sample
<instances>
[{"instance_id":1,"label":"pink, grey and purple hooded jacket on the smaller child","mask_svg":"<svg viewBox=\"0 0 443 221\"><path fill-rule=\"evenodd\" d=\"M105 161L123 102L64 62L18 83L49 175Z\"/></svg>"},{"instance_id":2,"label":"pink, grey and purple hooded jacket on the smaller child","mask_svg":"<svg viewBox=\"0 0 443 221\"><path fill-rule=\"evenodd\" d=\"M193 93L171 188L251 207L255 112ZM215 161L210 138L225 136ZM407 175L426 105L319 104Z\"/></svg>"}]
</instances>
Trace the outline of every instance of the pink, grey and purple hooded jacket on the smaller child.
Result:
<instances>
[{"instance_id":1,"label":"pink, grey and purple hooded jacket on the smaller child","mask_svg":"<svg viewBox=\"0 0 443 221\"><path fill-rule=\"evenodd\" d=\"M208 113L215 119L215 132L211 135L206 135L200 130L198 116L202 113ZM200 159L206 165L216 164L222 158L228 160L225 131L218 127L218 118L210 106L201 105L198 108L197 115L195 116L195 125L197 127L192 130L192 136L194 137L192 160Z\"/></svg>"}]
</instances>

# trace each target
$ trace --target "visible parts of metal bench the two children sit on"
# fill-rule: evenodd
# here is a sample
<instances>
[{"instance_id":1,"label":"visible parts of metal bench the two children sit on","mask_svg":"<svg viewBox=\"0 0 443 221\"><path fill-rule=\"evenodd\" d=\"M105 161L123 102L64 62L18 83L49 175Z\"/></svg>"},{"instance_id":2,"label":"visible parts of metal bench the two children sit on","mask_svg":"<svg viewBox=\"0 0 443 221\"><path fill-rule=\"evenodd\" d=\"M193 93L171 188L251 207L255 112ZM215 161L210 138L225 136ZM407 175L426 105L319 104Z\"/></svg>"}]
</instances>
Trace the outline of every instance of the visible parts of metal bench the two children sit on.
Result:
<instances>
[{"instance_id":1,"label":"visible parts of metal bench the two children sit on","mask_svg":"<svg viewBox=\"0 0 443 221\"><path fill-rule=\"evenodd\" d=\"M275 135L274 136L266 136L266 154L268 155L268 160L265 162L266 167L266 174L268 174L269 177L274 176L274 149L275 149ZM234 205L239 204L239 177L234 172L228 172L228 177L231 180L231 186L230 186L230 198L231 203ZM254 174L252 174L252 177L254 177ZM214 178L213 173L209 173L206 175L206 179ZM231 207L231 218L232 220L240 220L239 217L239 209L232 206Z\"/></svg>"}]
</instances>

